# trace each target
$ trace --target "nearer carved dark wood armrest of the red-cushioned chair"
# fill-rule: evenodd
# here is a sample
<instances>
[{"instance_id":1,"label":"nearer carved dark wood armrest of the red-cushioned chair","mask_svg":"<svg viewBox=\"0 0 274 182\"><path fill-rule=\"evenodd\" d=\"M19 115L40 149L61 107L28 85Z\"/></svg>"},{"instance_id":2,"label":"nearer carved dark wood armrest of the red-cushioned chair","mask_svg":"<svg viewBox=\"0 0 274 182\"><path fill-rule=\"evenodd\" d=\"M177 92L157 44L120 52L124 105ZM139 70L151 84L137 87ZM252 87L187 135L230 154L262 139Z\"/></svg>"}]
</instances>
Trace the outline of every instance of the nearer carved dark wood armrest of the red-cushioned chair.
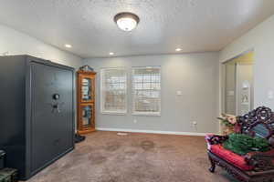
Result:
<instances>
[{"instance_id":1,"label":"nearer carved dark wood armrest of the red-cushioned chair","mask_svg":"<svg viewBox=\"0 0 274 182\"><path fill-rule=\"evenodd\" d=\"M249 152L245 156L249 166L254 167L255 171L266 171L274 169L274 149L268 152Z\"/></svg>"}]
</instances>

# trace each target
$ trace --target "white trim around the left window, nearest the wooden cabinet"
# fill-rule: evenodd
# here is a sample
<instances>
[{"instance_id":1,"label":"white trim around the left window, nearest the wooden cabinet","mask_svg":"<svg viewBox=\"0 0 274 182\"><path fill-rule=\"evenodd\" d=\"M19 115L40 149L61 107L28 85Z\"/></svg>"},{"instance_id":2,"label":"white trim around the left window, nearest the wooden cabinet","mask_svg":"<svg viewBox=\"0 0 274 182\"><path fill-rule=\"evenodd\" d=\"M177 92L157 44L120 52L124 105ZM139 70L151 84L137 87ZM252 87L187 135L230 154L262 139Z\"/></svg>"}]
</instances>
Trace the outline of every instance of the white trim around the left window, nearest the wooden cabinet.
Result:
<instances>
[{"instance_id":1,"label":"white trim around the left window, nearest the wooden cabinet","mask_svg":"<svg viewBox=\"0 0 274 182\"><path fill-rule=\"evenodd\" d=\"M124 69L125 70L125 110L120 111L104 111L103 110L103 94L102 94L102 70L104 69ZM100 68L100 113L103 115L126 115L128 113L128 96L127 96L127 90L128 90L128 76L127 76L127 70L125 67L101 67Z\"/></svg>"}]
</instances>

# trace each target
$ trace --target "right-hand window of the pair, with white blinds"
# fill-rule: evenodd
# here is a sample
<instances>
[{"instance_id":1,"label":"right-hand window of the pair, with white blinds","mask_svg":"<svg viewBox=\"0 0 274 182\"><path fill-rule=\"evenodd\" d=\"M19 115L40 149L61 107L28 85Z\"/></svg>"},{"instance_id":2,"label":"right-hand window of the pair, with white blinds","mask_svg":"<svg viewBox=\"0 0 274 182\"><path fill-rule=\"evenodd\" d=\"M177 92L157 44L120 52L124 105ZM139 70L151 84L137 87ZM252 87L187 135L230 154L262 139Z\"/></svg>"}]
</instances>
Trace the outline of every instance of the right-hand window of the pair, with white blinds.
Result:
<instances>
[{"instance_id":1,"label":"right-hand window of the pair, with white blinds","mask_svg":"<svg viewBox=\"0 0 274 182\"><path fill-rule=\"evenodd\" d=\"M133 115L161 114L161 67L132 69Z\"/></svg>"}]
</instances>

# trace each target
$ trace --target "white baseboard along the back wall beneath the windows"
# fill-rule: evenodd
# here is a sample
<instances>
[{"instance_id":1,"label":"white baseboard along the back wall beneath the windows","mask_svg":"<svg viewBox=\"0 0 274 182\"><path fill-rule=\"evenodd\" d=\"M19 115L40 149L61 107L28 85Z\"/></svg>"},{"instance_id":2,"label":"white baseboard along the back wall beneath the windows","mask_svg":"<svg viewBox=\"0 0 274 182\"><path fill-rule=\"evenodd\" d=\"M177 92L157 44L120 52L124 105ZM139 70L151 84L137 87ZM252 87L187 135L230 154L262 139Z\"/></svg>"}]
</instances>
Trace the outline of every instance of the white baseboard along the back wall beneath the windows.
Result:
<instances>
[{"instance_id":1,"label":"white baseboard along the back wall beneath the windows","mask_svg":"<svg viewBox=\"0 0 274 182\"><path fill-rule=\"evenodd\" d=\"M167 134L167 135L181 135L181 136L205 136L208 133L195 132L180 132L180 131L157 131L157 130L141 130L141 129L121 129L121 128L104 128L96 127L99 131L120 131L130 133L148 133L148 134Z\"/></svg>"}]
</instances>

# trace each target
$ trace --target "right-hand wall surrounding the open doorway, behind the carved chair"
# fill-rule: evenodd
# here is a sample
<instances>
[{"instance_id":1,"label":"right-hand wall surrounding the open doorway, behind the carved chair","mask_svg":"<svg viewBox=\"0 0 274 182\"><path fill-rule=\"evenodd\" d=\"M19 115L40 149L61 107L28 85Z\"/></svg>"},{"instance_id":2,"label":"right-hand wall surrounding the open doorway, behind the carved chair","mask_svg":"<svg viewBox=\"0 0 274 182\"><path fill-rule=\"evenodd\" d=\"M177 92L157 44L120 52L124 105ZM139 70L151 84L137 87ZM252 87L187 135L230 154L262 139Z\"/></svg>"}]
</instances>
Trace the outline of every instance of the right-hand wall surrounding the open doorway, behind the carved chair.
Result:
<instances>
[{"instance_id":1,"label":"right-hand wall surrounding the open doorway, behind the carved chair","mask_svg":"<svg viewBox=\"0 0 274 182\"><path fill-rule=\"evenodd\" d=\"M247 50L254 49L254 106L274 109L274 15L241 36L221 53L219 61L225 62ZM221 88L220 88L221 91Z\"/></svg>"}]
</instances>

